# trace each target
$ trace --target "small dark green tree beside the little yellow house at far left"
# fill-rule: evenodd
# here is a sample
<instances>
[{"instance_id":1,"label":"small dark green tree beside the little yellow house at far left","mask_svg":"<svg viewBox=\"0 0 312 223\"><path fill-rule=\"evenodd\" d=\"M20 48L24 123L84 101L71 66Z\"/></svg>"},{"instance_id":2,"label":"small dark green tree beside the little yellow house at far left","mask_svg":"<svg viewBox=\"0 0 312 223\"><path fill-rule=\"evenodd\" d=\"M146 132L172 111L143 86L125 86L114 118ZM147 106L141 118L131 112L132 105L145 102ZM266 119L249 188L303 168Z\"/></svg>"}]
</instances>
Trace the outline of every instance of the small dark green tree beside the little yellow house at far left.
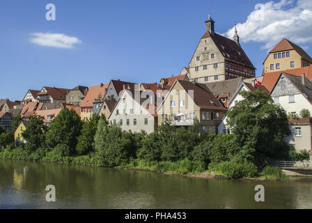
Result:
<instances>
[{"instance_id":1,"label":"small dark green tree beside the little yellow house at far left","mask_svg":"<svg viewBox=\"0 0 312 223\"><path fill-rule=\"evenodd\" d=\"M47 127L44 125L42 116L30 116L26 130L22 132L22 137L26 141L26 148L36 151L45 142L45 132Z\"/></svg>"}]
</instances>

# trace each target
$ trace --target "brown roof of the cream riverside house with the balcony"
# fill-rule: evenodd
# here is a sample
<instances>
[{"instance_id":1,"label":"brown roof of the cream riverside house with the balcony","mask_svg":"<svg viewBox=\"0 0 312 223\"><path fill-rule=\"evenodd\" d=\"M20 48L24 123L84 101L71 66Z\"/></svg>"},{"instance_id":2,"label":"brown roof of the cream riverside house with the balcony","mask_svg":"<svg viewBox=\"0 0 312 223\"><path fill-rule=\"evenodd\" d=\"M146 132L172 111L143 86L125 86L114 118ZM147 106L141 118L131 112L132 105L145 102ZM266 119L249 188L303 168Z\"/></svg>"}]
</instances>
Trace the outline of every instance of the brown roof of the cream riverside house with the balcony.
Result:
<instances>
[{"instance_id":1,"label":"brown roof of the cream riverside house with the balcony","mask_svg":"<svg viewBox=\"0 0 312 223\"><path fill-rule=\"evenodd\" d=\"M187 93L194 91L194 103L201 109L225 110L206 84L177 80Z\"/></svg>"}]
</instances>

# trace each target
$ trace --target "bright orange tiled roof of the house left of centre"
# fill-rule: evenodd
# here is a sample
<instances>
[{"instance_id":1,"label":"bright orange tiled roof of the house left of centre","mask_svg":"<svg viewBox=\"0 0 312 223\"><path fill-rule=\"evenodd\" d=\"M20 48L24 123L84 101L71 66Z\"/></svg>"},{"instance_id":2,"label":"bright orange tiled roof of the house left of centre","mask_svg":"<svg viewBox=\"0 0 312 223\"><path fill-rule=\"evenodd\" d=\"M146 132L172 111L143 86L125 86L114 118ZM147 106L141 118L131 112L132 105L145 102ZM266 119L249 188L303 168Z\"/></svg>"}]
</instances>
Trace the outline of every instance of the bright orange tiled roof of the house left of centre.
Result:
<instances>
[{"instance_id":1,"label":"bright orange tiled roof of the house left of centre","mask_svg":"<svg viewBox=\"0 0 312 223\"><path fill-rule=\"evenodd\" d=\"M104 98L106 90L109 86L109 84L99 84L95 86L91 86L88 90L88 93L86 94L86 97L84 97L84 101L81 102L80 107L93 107L93 102L95 102L95 99L100 97Z\"/></svg>"}]
</instances>

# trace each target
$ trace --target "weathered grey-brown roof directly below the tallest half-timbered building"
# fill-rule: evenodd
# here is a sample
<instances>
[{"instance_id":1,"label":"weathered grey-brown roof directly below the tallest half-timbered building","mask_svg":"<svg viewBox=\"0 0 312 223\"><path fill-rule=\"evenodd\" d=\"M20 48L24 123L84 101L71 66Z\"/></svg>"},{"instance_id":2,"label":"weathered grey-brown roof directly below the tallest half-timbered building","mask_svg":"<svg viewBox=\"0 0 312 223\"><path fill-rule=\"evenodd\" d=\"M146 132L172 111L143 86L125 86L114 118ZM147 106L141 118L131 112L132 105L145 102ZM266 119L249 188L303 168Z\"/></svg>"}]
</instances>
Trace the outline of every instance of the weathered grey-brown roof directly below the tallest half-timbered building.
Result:
<instances>
[{"instance_id":1,"label":"weathered grey-brown roof directly below the tallest half-timbered building","mask_svg":"<svg viewBox=\"0 0 312 223\"><path fill-rule=\"evenodd\" d=\"M226 79L221 82L211 82L206 85L212 91L214 95L224 95L229 93L230 96L233 96L238 86L242 82L242 77L237 77L235 79Z\"/></svg>"}]
</instances>

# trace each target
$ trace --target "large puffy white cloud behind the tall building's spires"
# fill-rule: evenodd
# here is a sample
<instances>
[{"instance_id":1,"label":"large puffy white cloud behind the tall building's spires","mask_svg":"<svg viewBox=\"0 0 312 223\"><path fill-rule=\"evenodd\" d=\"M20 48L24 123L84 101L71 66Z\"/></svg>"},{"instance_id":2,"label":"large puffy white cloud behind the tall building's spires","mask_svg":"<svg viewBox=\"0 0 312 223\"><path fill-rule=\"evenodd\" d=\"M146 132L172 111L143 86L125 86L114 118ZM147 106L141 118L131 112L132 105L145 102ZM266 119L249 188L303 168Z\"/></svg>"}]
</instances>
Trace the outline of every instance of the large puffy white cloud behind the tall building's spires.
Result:
<instances>
[{"instance_id":1,"label":"large puffy white cloud behind the tall building's spires","mask_svg":"<svg viewBox=\"0 0 312 223\"><path fill-rule=\"evenodd\" d=\"M235 27L225 36L232 38ZM237 24L242 43L263 43L263 49L271 49L282 38L299 45L312 41L312 1L281 0L256 4L246 22Z\"/></svg>"}]
</instances>

